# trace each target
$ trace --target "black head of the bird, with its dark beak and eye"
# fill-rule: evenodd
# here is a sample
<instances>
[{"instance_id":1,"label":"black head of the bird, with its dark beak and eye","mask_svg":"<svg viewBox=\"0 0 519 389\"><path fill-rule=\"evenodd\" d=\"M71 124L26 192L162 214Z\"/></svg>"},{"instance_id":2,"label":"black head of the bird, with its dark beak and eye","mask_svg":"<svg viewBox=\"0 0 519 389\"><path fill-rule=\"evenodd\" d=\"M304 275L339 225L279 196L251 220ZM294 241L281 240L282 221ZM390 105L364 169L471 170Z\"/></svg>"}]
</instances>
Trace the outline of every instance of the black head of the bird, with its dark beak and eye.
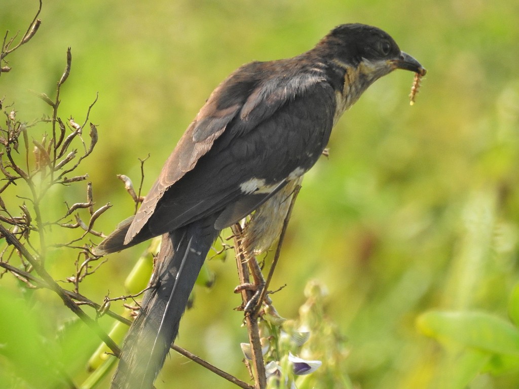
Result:
<instances>
[{"instance_id":1,"label":"black head of the bird, with its dark beak and eye","mask_svg":"<svg viewBox=\"0 0 519 389\"><path fill-rule=\"evenodd\" d=\"M425 68L403 52L383 30L365 24L343 24L335 27L316 46L328 61L353 70L369 86L395 69L425 75Z\"/></svg>"}]
</instances>

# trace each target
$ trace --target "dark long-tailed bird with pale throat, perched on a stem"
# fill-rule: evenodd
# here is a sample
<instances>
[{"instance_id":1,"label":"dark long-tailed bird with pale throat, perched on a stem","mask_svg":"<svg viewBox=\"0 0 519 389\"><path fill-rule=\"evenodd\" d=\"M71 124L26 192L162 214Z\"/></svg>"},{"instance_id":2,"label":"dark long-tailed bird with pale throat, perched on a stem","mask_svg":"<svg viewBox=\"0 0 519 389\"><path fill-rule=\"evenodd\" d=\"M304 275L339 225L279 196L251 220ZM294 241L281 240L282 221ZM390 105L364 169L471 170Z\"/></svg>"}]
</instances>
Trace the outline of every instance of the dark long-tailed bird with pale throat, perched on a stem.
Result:
<instances>
[{"instance_id":1,"label":"dark long-tailed bird with pale throat, perched on a stem","mask_svg":"<svg viewBox=\"0 0 519 389\"><path fill-rule=\"evenodd\" d=\"M249 249L255 241L259 249L268 245L279 232L287 192L317 162L339 118L396 69L426 73L385 31L349 23L295 57L242 65L216 87L138 212L92 250L103 256L162 235L151 288L122 344L112 388L153 387L220 231L256 211L251 233L270 238L252 237Z\"/></svg>"}]
</instances>

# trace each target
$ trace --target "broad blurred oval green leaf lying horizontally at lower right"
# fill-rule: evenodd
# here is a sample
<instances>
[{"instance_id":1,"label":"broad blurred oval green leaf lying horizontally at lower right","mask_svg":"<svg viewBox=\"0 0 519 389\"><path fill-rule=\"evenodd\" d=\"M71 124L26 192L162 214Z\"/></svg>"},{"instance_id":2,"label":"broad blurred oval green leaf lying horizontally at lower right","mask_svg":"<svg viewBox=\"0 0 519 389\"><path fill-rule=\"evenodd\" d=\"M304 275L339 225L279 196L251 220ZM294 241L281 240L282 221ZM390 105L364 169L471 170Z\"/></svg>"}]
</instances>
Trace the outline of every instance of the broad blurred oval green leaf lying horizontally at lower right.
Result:
<instances>
[{"instance_id":1,"label":"broad blurred oval green leaf lying horizontally at lower right","mask_svg":"<svg viewBox=\"0 0 519 389\"><path fill-rule=\"evenodd\" d=\"M461 344L490 353L519 355L519 330L488 313L430 311L417 319L427 336L449 344Z\"/></svg>"}]
</instances>

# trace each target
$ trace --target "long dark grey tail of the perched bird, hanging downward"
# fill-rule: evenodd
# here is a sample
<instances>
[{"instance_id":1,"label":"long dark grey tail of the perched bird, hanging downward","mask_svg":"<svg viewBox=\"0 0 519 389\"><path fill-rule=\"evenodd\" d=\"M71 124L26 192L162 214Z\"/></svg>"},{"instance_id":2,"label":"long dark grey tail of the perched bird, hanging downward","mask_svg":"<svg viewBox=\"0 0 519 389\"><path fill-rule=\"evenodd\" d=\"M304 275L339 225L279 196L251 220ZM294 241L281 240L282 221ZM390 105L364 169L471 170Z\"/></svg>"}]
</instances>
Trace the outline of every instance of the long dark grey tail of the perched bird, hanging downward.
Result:
<instances>
[{"instance_id":1,"label":"long dark grey tail of the perched bird, hanging downward","mask_svg":"<svg viewBox=\"0 0 519 389\"><path fill-rule=\"evenodd\" d=\"M150 389L179 330L187 300L216 238L213 220L162 235L162 244L139 315L122 344L111 388Z\"/></svg>"}]
</instances>

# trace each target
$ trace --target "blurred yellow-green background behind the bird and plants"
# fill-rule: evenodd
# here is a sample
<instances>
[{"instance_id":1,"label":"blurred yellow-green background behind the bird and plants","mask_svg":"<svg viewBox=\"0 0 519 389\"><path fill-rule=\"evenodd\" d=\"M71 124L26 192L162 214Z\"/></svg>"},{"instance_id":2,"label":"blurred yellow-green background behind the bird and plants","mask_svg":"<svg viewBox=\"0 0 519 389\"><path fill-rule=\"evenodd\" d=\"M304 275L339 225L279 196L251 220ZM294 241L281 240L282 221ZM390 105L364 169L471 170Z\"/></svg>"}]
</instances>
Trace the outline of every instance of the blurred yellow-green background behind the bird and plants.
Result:
<instances>
[{"instance_id":1,"label":"blurred yellow-green background behind the bird and plants","mask_svg":"<svg viewBox=\"0 0 519 389\"><path fill-rule=\"evenodd\" d=\"M36 9L34 0L2 0L0 33L25 31ZM8 57L12 70L0 77L0 96L25 120L49 113L28 90L53 96L72 47L61 115L83 122L99 92L90 120L100 141L81 169L97 204L114 205L96 226L107 233L133 212L115 175L138 183L138 158L150 154L146 193L210 92L235 68L299 54L338 24L384 29L428 70L417 103L410 107L407 98L412 74L395 72L340 120L330 157L304 179L271 287L287 284L274 301L293 318L305 284L325 286L326 315L349 352L344 374L358 387L439 387L444 350L417 330L416 317L431 309L506 317L518 278L518 15L516 1L44 1L38 33ZM56 212L63 196L84 201L85 186L74 188L56 193ZM108 290L125 294L122 284L143 249L110 256L83 293L96 301ZM57 253L53 274L71 275L74 260ZM240 303L232 293L235 265L209 266L216 284L197 287L177 343L246 379L239 343L247 335L233 310ZM0 287L23 294L9 276ZM72 317L50 293L36 291L32 304L49 334ZM112 309L122 311L115 303ZM100 323L110 328L113 320ZM79 327L85 352L71 356L70 372L77 383L99 343ZM189 385L230 387L172 353L157 388ZM471 383L512 387L519 387L518 367Z\"/></svg>"}]
</instances>

